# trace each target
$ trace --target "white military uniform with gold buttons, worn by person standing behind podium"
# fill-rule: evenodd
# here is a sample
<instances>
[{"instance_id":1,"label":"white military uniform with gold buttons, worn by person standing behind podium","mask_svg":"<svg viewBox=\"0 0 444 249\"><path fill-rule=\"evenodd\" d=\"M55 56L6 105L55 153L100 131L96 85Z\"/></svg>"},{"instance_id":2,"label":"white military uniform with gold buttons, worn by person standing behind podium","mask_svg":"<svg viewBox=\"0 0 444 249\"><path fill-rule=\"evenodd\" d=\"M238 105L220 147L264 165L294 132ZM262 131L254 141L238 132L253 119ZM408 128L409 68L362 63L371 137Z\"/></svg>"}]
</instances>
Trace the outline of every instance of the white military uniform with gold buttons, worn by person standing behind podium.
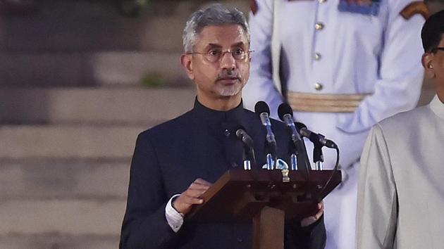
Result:
<instances>
[{"instance_id":1,"label":"white military uniform with gold buttons, worn by person standing behind podium","mask_svg":"<svg viewBox=\"0 0 444 249\"><path fill-rule=\"evenodd\" d=\"M411 0L381 0L376 15L338 11L340 0L256 2L246 108L264 100L276 117L279 81L292 92L369 94L354 113L295 112L297 121L338 143L346 177L325 200L326 248L354 248L356 162L370 127L417 104L424 18L400 15ZM335 151L323 151L324 168L332 168Z\"/></svg>"}]
</instances>

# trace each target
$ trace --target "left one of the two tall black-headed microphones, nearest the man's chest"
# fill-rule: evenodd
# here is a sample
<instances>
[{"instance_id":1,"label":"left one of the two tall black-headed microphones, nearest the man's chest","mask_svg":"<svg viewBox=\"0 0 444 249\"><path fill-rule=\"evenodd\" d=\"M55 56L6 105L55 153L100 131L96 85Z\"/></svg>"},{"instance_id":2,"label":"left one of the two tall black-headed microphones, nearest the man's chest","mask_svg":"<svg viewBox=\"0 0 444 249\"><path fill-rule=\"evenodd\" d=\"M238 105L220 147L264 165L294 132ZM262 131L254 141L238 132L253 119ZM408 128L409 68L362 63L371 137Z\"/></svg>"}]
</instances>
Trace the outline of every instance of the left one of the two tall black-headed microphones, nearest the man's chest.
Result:
<instances>
[{"instance_id":1,"label":"left one of the two tall black-headed microphones, nearest the man's chest","mask_svg":"<svg viewBox=\"0 0 444 249\"><path fill-rule=\"evenodd\" d=\"M276 138L271 130L270 108L264 101L259 101L254 106L254 112L259 115L262 125L266 129L266 164L267 170L273 170L276 166Z\"/></svg>"}]
</instances>

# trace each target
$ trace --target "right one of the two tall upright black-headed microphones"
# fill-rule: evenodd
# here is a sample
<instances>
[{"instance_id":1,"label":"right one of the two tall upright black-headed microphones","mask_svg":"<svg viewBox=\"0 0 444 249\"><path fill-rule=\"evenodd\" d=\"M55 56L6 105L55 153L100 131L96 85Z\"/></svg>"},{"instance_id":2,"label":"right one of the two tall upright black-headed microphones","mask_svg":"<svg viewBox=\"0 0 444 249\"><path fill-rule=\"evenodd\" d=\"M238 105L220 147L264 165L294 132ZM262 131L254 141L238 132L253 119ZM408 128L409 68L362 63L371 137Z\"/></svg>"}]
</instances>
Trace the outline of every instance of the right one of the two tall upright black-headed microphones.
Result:
<instances>
[{"instance_id":1,"label":"right one of the two tall upright black-headed microphones","mask_svg":"<svg viewBox=\"0 0 444 249\"><path fill-rule=\"evenodd\" d=\"M305 174L308 177L308 172L311 170L311 167L309 166L309 159L307 156L307 150L305 149L304 141L302 141L299 132L297 132L297 129L295 127L295 121L293 120L293 110L291 109L290 105L288 103L281 103L278 107L278 115L280 120L285 122L285 125L290 129L291 134L291 140L293 142L294 148L296 150L297 155L297 165L303 165L303 169L305 171ZM292 170L295 170L297 167L293 167L294 163L294 156L292 157Z\"/></svg>"}]
</instances>

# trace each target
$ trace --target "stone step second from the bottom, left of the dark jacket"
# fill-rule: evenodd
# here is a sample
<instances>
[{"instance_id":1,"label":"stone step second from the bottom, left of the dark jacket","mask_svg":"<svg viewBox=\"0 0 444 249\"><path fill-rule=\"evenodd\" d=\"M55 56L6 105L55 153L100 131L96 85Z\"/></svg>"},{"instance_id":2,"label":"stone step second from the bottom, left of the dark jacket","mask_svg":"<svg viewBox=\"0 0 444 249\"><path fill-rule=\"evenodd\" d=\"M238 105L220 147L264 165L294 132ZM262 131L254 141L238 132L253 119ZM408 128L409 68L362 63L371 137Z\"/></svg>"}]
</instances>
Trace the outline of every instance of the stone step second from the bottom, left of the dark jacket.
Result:
<instances>
[{"instance_id":1,"label":"stone step second from the bottom, left of the dark jacket","mask_svg":"<svg viewBox=\"0 0 444 249\"><path fill-rule=\"evenodd\" d=\"M30 199L0 201L0 236L69 234L118 236L126 200Z\"/></svg>"}]
</instances>

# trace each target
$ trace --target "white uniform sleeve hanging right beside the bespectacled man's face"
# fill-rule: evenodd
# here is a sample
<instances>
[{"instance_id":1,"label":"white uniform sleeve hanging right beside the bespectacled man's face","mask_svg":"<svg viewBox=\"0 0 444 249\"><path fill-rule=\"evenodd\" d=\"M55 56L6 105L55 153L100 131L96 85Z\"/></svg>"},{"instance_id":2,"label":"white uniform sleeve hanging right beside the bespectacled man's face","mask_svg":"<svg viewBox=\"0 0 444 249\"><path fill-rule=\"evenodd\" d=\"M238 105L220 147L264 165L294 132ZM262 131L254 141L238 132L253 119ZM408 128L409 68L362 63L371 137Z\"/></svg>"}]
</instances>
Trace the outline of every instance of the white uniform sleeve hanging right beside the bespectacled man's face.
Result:
<instances>
[{"instance_id":1,"label":"white uniform sleeve hanging right beside the bespectacled man's face","mask_svg":"<svg viewBox=\"0 0 444 249\"><path fill-rule=\"evenodd\" d=\"M271 68L271 34L273 32L273 0L257 0L257 13L249 15L249 29L252 37L252 61L250 77L242 91L244 107L254 110L257 101L266 101L271 117L278 117L277 109L282 97L273 84Z\"/></svg>"}]
</instances>

